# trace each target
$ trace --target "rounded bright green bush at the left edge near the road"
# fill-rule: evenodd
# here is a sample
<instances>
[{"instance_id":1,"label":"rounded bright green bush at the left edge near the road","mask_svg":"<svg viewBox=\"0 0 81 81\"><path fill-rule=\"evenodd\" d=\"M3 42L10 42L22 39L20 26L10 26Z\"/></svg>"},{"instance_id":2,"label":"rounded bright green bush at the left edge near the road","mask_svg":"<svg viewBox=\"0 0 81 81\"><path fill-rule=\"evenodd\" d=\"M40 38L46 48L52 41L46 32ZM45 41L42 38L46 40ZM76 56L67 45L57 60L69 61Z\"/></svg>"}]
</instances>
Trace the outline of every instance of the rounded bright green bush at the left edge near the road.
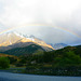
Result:
<instances>
[{"instance_id":1,"label":"rounded bright green bush at the left edge near the road","mask_svg":"<svg viewBox=\"0 0 81 81\"><path fill-rule=\"evenodd\" d=\"M8 57L0 57L0 68L9 68L10 67L10 60Z\"/></svg>"}]
</instances>

